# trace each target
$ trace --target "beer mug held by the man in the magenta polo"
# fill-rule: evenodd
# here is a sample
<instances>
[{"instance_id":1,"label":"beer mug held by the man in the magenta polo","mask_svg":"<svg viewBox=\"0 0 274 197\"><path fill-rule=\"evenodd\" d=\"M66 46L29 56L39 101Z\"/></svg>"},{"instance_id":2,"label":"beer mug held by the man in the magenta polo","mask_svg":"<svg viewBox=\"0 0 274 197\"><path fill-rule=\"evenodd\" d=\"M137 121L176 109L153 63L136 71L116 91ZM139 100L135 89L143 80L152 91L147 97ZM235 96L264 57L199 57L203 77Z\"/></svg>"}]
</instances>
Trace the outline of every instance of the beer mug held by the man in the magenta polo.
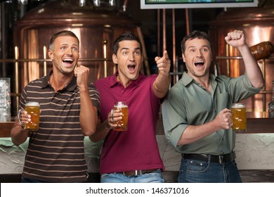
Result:
<instances>
[{"instance_id":1,"label":"beer mug held by the man in the magenta polo","mask_svg":"<svg viewBox=\"0 0 274 197\"><path fill-rule=\"evenodd\" d=\"M119 109L123 113L122 120L118 120L117 122L115 122L115 124L118 125L116 128L114 128L115 131L120 131L120 132L126 131L127 130L127 122L128 122L128 118L129 118L129 110L128 110L129 106L124 101L117 101L117 102L115 102L115 106L113 109L114 110Z\"/></svg>"}]
</instances>

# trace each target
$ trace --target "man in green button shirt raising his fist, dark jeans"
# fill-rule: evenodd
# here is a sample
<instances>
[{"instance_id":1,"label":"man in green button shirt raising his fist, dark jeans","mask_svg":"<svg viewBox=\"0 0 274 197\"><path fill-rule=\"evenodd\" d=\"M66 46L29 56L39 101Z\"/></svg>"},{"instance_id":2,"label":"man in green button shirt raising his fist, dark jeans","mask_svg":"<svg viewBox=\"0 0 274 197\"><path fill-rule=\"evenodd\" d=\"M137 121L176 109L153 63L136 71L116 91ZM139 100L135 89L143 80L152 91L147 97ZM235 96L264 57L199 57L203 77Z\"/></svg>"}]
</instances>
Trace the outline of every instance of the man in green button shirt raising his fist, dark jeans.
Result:
<instances>
[{"instance_id":1,"label":"man in green button shirt raising his fist, dark jeans","mask_svg":"<svg viewBox=\"0 0 274 197\"><path fill-rule=\"evenodd\" d=\"M240 77L209 73L212 49L206 33L193 31L181 42L188 72L183 72L162 104L164 132L182 153L178 182L242 182L229 109L259 93L263 76L242 31L229 32L225 39L242 54L246 72Z\"/></svg>"}]
</instances>

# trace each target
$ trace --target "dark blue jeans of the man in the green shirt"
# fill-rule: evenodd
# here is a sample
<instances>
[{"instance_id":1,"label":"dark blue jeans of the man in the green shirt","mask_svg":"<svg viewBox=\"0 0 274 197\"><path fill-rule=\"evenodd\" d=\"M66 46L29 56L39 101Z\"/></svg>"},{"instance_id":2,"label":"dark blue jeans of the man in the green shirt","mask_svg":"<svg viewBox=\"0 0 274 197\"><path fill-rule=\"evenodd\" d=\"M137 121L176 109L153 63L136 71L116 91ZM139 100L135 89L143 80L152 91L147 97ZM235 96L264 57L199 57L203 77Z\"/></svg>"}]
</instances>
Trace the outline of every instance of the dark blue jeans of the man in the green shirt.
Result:
<instances>
[{"instance_id":1,"label":"dark blue jeans of the man in the green shirt","mask_svg":"<svg viewBox=\"0 0 274 197\"><path fill-rule=\"evenodd\" d=\"M179 183L241 183L235 161L210 163L202 160L181 160Z\"/></svg>"}]
</instances>

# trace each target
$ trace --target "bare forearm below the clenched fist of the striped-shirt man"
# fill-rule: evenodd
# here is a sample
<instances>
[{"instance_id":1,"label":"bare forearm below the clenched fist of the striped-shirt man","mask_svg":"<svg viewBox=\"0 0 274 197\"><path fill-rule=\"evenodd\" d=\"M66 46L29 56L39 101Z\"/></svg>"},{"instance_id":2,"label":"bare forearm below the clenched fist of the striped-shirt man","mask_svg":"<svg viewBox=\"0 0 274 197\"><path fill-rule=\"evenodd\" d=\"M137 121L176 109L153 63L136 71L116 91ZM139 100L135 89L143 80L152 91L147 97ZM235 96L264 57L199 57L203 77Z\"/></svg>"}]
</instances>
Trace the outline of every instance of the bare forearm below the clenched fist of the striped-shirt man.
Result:
<instances>
[{"instance_id":1,"label":"bare forearm below the clenched fist of the striped-shirt man","mask_svg":"<svg viewBox=\"0 0 274 197\"><path fill-rule=\"evenodd\" d=\"M97 108L93 106L88 89L80 92L80 125L85 136L90 136L96 131L98 118Z\"/></svg>"}]
</instances>

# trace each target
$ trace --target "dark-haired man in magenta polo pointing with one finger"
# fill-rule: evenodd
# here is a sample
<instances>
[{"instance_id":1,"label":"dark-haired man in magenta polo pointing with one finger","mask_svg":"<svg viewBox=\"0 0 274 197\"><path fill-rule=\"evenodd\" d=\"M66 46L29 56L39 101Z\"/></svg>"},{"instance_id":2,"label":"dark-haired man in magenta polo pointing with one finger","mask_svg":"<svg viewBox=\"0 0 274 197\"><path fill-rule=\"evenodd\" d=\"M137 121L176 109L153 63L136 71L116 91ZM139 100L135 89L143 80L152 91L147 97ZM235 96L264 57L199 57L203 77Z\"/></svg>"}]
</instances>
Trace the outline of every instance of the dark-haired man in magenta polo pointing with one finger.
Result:
<instances>
[{"instance_id":1,"label":"dark-haired man in magenta polo pointing with one finger","mask_svg":"<svg viewBox=\"0 0 274 197\"><path fill-rule=\"evenodd\" d=\"M142 44L131 32L120 35L114 42L112 61L117 72L95 83L100 93L100 116L91 141L103 143L100 158L101 182L164 182L164 165L155 137L157 115L162 99L167 95L171 77L167 51L156 57L158 75L141 74ZM121 110L112 108L116 101L129 106L128 129L115 130L122 120Z\"/></svg>"}]
</instances>

